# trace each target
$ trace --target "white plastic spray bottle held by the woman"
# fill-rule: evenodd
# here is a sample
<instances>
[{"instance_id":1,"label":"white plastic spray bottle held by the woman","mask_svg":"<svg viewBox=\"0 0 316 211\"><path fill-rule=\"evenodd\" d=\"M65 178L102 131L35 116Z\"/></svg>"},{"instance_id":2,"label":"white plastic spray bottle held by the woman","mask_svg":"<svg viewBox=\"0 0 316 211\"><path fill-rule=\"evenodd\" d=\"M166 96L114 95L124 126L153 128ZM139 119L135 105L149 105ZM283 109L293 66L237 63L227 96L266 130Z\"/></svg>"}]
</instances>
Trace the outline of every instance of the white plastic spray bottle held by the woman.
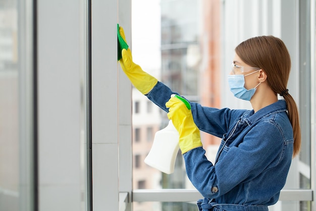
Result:
<instances>
[{"instance_id":1,"label":"white plastic spray bottle held by the woman","mask_svg":"<svg viewBox=\"0 0 316 211\"><path fill-rule=\"evenodd\" d=\"M179 151L179 133L169 121L166 128L155 133L151 149L144 162L157 170L172 174Z\"/></svg>"}]
</instances>

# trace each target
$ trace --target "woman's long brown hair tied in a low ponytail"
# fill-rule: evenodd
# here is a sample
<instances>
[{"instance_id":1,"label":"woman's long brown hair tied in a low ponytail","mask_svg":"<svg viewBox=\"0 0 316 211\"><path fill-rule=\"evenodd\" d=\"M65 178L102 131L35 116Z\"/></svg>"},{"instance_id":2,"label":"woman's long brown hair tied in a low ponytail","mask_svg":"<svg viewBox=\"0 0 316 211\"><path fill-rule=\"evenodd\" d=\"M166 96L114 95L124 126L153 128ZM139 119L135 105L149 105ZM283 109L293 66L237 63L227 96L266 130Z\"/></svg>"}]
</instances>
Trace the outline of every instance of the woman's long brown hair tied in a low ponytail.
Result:
<instances>
[{"instance_id":1,"label":"woman's long brown hair tied in a low ponytail","mask_svg":"<svg viewBox=\"0 0 316 211\"><path fill-rule=\"evenodd\" d=\"M276 95L282 94L293 128L293 157L296 156L300 150L301 132L296 103L287 92L291 59L285 44L280 38L274 36L257 36L243 41L236 47L235 52L246 64L265 71L271 89Z\"/></svg>"}]
</instances>

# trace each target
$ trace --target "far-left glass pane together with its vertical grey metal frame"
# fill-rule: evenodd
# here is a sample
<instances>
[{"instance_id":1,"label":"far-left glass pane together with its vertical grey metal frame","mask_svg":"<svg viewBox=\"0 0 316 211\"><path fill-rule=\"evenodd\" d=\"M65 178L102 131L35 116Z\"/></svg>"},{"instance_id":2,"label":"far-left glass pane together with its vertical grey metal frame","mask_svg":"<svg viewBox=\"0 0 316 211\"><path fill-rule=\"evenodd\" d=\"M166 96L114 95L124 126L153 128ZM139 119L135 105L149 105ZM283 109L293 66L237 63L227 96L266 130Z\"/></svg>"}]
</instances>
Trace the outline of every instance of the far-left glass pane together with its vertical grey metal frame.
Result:
<instances>
[{"instance_id":1,"label":"far-left glass pane together with its vertical grey metal frame","mask_svg":"<svg viewBox=\"0 0 316 211\"><path fill-rule=\"evenodd\" d=\"M26 2L0 1L0 210L34 210L32 15L25 6L32 3Z\"/></svg>"}]
</instances>

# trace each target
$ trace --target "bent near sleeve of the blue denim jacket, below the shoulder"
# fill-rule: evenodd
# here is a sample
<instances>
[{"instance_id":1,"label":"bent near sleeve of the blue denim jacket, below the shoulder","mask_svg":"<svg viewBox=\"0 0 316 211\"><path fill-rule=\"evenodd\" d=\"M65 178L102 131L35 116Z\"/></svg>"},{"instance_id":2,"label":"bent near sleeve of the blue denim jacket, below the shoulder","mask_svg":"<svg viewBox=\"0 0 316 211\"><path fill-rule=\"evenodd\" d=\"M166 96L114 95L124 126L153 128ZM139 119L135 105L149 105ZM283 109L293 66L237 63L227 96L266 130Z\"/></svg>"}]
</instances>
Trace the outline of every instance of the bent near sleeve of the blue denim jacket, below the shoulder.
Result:
<instances>
[{"instance_id":1,"label":"bent near sleeve of the blue denim jacket, below the shoulder","mask_svg":"<svg viewBox=\"0 0 316 211\"><path fill-rule=\"evenodd\" d=\"M205 198L217 198L237 185L260 178L257 176L265 171L275 170L278 174L287 174L290 163L278 165L282 156L285 156L284 148L283 136L278 127L271 122L262 122L260 126L252 128L238 146L225 146L215 165L206 159L202 147L188 151L183 157L188 178L195 188ZM287 152L287 156L291 156L291 151ZM274 174L276 178L268 179L277 179L280 177L278 174ZM267 181L261 182L267 184ZM260 182L257 181L258 184Z\"/></svg>"}]
</instances>

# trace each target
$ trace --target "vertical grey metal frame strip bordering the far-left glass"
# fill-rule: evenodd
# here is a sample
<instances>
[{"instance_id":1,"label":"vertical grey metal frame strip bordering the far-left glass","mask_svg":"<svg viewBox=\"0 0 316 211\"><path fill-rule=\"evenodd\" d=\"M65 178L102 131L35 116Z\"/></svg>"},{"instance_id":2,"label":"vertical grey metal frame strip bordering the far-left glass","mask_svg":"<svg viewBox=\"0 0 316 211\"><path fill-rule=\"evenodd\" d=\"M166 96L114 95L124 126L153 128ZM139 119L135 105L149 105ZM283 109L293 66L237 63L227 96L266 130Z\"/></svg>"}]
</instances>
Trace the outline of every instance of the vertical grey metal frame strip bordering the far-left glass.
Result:
<instances>
[{"instance_id":1,"label":"vertical grey metal frame strip bordering the far-left glass","mask_svg":"<svg viewBox=\"0 0 316 211\"><path fill-rule=\"evenodd\" d=\"M36 0L18 1L19 208L38 210Z\"/></svg>"}]
</instances>

